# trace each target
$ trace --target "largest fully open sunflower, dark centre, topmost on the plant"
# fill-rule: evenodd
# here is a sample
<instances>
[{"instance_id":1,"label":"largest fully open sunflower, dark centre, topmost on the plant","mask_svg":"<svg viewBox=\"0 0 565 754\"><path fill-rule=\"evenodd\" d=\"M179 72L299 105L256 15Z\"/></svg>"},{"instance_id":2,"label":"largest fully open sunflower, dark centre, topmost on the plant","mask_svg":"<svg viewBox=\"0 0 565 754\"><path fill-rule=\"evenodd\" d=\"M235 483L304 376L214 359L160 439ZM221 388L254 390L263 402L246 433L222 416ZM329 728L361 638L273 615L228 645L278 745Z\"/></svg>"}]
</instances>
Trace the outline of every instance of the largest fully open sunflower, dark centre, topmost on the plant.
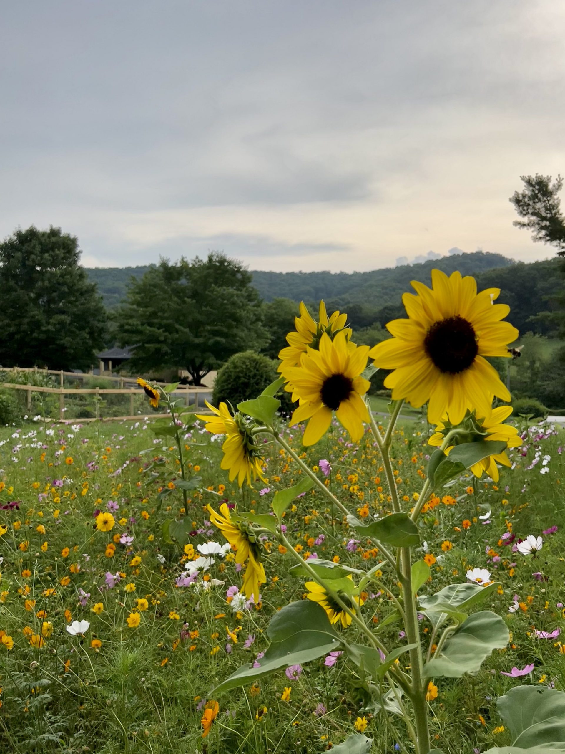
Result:
<instances>
[{"instance_id":1,"label":"largest fully open sunflower, dark centre, topmost on the plant","mask_svg":"<svg viewBox=\"0 0 565 754\"><path fill-rule=\"evenodd\" d=\"M499 288L477 293L473 277L432 270L432 288L412 281L414 293L402 302L408 319L386 325L392 339L378 343L369 356L374 366L393 369L384 385L392 400L418 408L429 401L428 418L438 424L444 414L458 424L466 409L486 415L493 395L510 400L498 372L484 358L511 354L518 330L502 322L510 308L495 304Z\"/></svg>"}]
</instances>

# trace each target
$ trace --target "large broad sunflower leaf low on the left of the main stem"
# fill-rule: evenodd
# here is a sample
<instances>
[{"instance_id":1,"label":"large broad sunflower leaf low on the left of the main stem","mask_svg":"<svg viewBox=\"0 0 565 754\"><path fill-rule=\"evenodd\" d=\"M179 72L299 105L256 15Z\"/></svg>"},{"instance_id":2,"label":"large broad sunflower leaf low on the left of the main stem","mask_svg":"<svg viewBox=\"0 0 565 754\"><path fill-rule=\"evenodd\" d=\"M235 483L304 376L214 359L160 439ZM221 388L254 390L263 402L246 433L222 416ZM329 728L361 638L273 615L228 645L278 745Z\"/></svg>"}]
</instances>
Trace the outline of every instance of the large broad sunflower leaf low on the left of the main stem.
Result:
<instances>
[{"instance_id":1,"label":"large broad sunflower leaf low on the left of the main stem","mask_svg":"<svg viewBox=\"0 0 565 754\"><path fill-rule=\"evenodd\" d=\"M270 646L260 660L247 663L220 683L210 696L248 684L289 665L300 665L341 647L339 634L328 621L324 608L303 599L291 602L271 618L267 635Z\"/></svg>"}]
</instances>

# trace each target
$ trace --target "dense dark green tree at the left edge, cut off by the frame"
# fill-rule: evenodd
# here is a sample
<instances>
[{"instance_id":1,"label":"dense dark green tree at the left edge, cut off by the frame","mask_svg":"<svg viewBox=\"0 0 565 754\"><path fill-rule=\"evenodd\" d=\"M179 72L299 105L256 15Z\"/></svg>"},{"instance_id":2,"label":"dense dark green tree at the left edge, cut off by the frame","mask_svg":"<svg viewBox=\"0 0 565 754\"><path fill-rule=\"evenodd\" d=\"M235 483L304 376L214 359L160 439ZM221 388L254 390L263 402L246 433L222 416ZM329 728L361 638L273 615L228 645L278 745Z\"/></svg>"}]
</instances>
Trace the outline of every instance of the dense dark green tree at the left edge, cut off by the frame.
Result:
<instances>
[{"instance_id":1,"label":"dense dark green tree at the left edge, cut off by the frame","mask_svg":"<svg viewBox=\"0 0 565 754\"><path fill-rule=\"evenodd\" d=\"M0 244L0 363L88 369L104 344L106 314L79 267L74 236L33 225Z\"/></svg>"}]
</instances>

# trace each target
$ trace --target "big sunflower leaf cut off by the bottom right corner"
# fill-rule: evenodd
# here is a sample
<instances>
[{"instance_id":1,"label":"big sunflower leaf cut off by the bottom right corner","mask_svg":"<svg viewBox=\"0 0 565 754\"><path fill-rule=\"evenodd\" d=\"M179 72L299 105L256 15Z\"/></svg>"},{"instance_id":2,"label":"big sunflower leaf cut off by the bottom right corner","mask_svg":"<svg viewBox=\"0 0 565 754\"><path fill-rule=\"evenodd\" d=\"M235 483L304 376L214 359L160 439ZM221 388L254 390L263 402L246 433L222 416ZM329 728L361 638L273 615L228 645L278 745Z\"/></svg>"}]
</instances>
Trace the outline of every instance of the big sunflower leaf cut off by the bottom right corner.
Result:
<instances>
[{"instance_id":1,"label":"big sunflower leaf cut off by the bottom right corner","mask_svg":"<svg viewBox=\"0 0 565 754\"><path fill-rule=\"evenodd\" d=\"M565 752L565 693L547 686L516 686L496 706L512 734L512 746L487 754Z\"/></svg>"}]
</instances>

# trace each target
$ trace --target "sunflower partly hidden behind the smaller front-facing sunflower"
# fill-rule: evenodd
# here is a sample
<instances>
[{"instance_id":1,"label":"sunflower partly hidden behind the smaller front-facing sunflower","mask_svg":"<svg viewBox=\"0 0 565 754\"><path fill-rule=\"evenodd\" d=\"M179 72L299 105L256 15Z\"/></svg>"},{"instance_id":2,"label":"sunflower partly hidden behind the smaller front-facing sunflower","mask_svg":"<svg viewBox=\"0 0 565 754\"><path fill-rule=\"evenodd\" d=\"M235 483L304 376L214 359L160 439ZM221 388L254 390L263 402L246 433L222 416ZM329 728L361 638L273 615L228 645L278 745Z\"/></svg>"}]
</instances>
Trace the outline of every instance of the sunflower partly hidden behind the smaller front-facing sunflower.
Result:
<instances>
[{"instance_id":1,"label":"sunflower partly hidden behind the smaller front-facing sunflower","mask_svg":"<svg viewBox=\"0 0 565 754\"><path fill-rule=\"evenodd\" d=\"M318 348L319 339L322 333L328 333L333 338L337 333L344 332L347 340L351 337L351 328L346 327L347 314L341 314L340 311L334 311L331 317L325 310L325 303L319 302L319 321L313 319L303 301L300 302L300 317L295 317L295 331L286 336L289 345L282 348L279 353L278 371L285 376L286 369L300 364L301 356L310 348ZM292 386L287 385L286 389L291 392Z\"/></svg>"}]
</instances>

